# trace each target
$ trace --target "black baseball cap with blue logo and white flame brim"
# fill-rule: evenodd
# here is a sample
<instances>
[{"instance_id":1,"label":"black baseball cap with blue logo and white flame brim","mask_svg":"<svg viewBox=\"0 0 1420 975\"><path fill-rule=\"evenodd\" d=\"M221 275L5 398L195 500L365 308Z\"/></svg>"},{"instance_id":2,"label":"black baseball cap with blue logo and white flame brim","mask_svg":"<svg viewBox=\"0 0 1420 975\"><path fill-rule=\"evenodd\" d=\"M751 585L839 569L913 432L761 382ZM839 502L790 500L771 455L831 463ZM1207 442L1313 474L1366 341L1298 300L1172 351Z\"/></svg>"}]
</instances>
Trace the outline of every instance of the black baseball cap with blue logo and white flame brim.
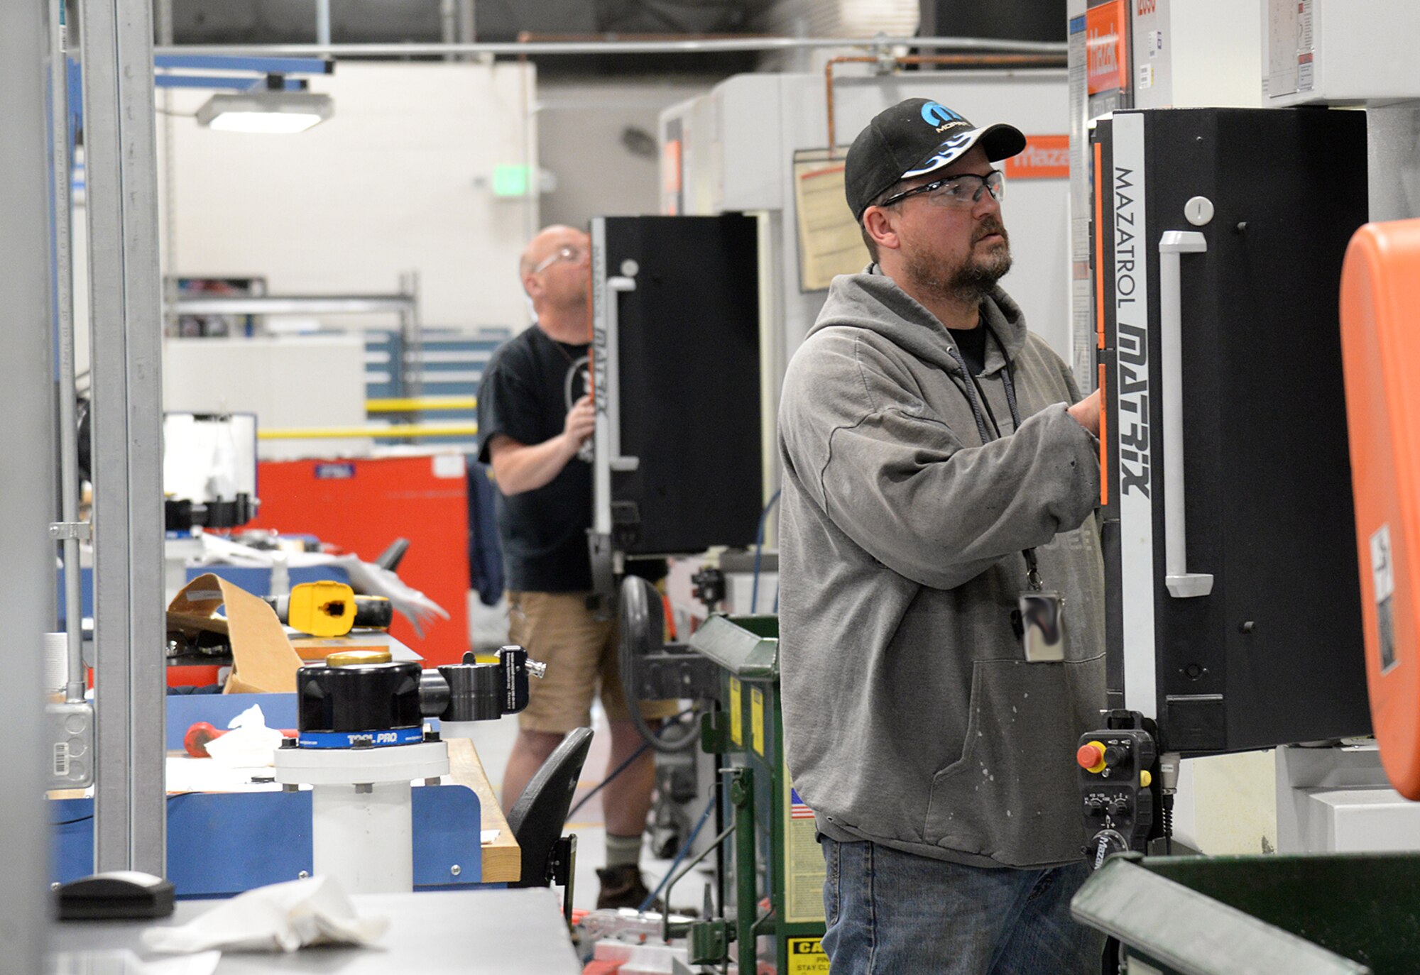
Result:
<instances>
[{"instance_id":1,"label":"black baseball cap with blue logo and white flame brim","mask_svg":"<svg viewBox=\"0 0 1420 975\"><path fill-rule=\"evenodd\" d=\"M873 197L897 180L941 169L978 142L991 162L1025 148L1014 125L978 128L930 98L909 98L878 112L848 149L843 192L853 220L862 220Z\"/></svg>"}]
</instances>

